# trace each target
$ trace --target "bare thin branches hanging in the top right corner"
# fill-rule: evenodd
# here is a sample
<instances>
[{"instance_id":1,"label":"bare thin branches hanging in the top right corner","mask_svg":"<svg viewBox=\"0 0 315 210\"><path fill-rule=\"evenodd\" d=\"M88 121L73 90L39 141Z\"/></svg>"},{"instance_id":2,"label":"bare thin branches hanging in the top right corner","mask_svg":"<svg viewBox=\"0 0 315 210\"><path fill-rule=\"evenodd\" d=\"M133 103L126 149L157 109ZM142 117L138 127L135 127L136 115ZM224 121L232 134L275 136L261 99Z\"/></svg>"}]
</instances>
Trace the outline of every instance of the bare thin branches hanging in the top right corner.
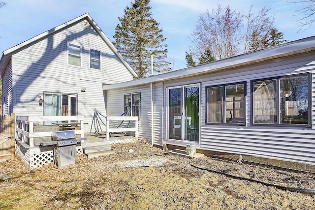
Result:
<instances>
[{"instance_id":1,"label":"bare thin branches hanging in the top right corner","mask_svg":"<svg viewBox=\"0 0 315 210\"><path fill-rule=\"evenodd\" d=\"M299 31L305 27L307 27L305 30L310 28L315 22L315 0L299 0L292 1L290 3L301 3L303 5L302 9L296 11L299 15L304 15L304 17L297 20L297 22L300 24Z\"/></svg>"}]
</instances>

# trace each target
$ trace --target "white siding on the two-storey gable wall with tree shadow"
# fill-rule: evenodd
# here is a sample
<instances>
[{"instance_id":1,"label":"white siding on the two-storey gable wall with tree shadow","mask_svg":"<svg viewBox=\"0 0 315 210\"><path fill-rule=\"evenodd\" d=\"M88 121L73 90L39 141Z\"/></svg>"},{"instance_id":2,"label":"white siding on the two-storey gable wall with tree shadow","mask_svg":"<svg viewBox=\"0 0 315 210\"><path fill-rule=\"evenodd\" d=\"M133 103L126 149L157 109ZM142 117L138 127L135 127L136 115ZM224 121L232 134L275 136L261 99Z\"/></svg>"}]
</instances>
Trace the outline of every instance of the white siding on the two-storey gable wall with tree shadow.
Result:
<instances>
[{"instance_id":1,"label":"white siding on the two-storey gable wall with tree shadow","mask_svg":"<svg viewBox=\"0 0 315 210\"><path fill-rule=\"evenodd\" d=\"M132 79L124 63L91 25L84 27L84 21L69 25L13 55L16 115L43 115L43 106L38 105L38 95L43 95L43 92L61 92L77 95L77 115L84 116L85 122L91 125L94 109L106 112L102 85ZM81 67L67 64L67 43L80 43L82 46ZM106 55L101 59L102 71L91 73L90 48L99 49ZM85 126L86 132L90 132L89 125Z\"/></svg>"}]
</instances>

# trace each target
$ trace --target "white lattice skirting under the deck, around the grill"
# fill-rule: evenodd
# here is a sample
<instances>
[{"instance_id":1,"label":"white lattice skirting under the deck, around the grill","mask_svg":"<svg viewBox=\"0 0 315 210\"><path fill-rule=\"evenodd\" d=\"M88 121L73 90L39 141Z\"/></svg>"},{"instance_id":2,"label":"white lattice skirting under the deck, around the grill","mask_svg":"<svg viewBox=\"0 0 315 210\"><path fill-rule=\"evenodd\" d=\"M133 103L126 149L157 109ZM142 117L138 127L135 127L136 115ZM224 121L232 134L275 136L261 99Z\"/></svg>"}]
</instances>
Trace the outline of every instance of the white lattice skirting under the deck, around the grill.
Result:
<instances>
[{"instance_id":1,"label":"white lattice skirting under the deck, around the grill","mask_svg":"<svg viewBox=\"0 0 315 210\"><path fill-rule=\"evenodd\" d=\"M77 155L83 153L82 146L78 146ZM29 168L40 168L44 165L54 163L54 150L37 151L32 148L25 148L23 143L17 142L16 146L16 156L18 156L22 162Z\"/></svg>"}]
</instances>

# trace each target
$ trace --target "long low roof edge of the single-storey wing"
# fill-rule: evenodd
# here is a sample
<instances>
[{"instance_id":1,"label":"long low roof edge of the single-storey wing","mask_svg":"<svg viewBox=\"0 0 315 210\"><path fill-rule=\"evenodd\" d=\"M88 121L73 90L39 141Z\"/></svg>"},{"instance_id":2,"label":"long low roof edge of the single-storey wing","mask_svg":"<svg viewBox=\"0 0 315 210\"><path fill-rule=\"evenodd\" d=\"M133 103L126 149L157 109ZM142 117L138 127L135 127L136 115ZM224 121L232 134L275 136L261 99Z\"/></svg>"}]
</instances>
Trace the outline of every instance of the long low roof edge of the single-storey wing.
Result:
<instances>
[{"instance_id":1,"label":"long low roof edge of the single-storey wing","mask_svg":"<svg viewBox=\"0 0 315 210\"><path fill-rule=\"evenodd\" d=\"M226 69L251 65L267 60L288 57L292 55L302 54L310 51L315 51L315 36L287 42L278 46L268 47L262 50L251 53L242 54L239 56L216 60L213 62L196 65L188 68L183 68L175 71L170 71L163 74L158 74L151 77L116 83L112 85L103 85L103 90L119 89L124 87L132 87L149 83L172 80L176 78L184 78L193 75L201 75Z\"/></svg>"}]
</instances>

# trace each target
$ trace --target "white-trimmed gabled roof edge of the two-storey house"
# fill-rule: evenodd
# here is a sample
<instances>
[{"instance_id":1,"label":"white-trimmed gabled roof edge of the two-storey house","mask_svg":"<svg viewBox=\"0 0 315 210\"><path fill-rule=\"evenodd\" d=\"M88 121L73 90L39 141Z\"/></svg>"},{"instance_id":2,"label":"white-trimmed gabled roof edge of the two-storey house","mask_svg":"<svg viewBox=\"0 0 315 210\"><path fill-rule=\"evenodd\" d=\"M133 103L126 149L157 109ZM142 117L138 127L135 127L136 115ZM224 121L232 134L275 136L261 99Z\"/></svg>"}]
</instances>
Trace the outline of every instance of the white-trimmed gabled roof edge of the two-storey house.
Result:
<instances>
[{"instance_id":1,"label":"white-trimmed gabled roof edge of the two-storey house","mask_svg":"<svg viewBox=\"0 0 315 210\"><path fill-rule=\"evenodd\" d=\"M126 62L126 60L123 58L123 56L117 51L117 49L115 48L115 46L113 45L113 43L109 40L109 38L105 35L105 33L99 28L99 26L95 23L95 21L92 19L92 17L90 16L89 13L86 13L84 15L81 15L77 18L74 18L73 20L70 20L60 26L57 26L51 30L47 30L37 36L34 36L14 47L11 47L5 51L3 51L2 53L2 57L0 60L0 73L2 75L3 71L6 68L6 65L8 64L8 62L10 61L11 55L14 54L14 52L18 51L19 49L21 49L22 47L31 45L32 43L34 43L35 41L45 38L46 36L49 36L52 33L56 33L60 30L63 30L64 28L68 27L69 25L79 22L83 19L86 19L90 25L93 27L93 29L99 34L99 36L104 40L104 42L110 47L110 49L115 53L115 55L124 63L124 65L126 66L126 68L130 71L130 73L133 75L133 77L137 77L137 74L134 72L134 70L131 68L131 66Z\"/></svg>"}]
</instances>

